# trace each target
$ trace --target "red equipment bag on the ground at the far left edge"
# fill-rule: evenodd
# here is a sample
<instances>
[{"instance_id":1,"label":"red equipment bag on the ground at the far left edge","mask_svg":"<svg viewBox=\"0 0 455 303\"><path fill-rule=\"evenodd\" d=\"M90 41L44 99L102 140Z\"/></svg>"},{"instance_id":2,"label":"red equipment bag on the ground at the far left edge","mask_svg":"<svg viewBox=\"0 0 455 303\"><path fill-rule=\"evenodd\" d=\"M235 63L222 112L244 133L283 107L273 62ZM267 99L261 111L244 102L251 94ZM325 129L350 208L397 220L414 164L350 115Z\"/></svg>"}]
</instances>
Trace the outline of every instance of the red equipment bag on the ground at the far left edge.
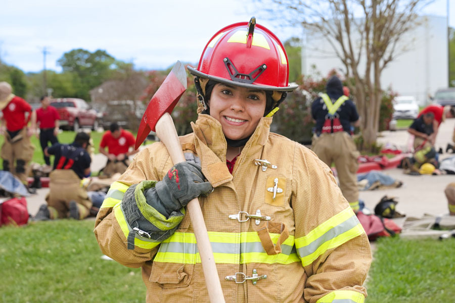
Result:
<instances>
[{"instance_id":1,"label":"red equipment bag on the ground at the far left edge","mask_svg":"<svg viewBox=\"0 0 455 303\"><path fill-rule=\"evenodd\" d=\"M27 224L29 214L25 197L12 198L0 204L0 226Z\"/></svg>"}]
</instances>

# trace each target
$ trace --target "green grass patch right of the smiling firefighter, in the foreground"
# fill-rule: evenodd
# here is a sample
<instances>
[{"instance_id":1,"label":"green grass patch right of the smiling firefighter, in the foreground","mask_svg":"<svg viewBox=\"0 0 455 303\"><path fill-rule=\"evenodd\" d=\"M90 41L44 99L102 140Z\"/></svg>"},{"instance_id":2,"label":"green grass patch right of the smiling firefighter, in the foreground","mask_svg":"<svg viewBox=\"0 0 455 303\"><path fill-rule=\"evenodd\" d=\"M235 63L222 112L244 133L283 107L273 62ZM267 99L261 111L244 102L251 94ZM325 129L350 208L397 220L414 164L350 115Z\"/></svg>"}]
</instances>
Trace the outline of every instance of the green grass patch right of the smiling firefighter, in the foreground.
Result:
<instances>
[{"instance_id":1,"label":"green grass patch right of the smiling firefighter, in the foreground","mask_svg":"<svg viewBox=\"0 0 455 303\"><path fill-rule=\"evenodd\" d=\"M455 239L381 238L367 282L367 303L453 302Z\"/></svg>"}]
</instances>

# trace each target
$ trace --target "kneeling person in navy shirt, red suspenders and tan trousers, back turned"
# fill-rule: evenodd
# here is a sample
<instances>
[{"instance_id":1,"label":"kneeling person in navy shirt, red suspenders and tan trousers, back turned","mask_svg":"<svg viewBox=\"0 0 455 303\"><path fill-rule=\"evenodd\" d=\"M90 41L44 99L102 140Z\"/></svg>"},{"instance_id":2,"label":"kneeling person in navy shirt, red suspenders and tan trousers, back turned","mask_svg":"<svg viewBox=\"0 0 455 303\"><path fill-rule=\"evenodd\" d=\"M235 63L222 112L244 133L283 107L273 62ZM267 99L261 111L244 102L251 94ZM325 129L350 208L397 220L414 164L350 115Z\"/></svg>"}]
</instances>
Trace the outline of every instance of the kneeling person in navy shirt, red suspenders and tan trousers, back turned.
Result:
<instances>
[{"instance_id":1,"label":"kneeling person in navy shirt, red suspenders and tan trousers, back turned","mask_svg":"<svg viewBox=\"0 0 455 303\"><path fill-rule=\"evenodd\" d=\"M71 144L56 143L45 149L46 156L54 155L54 170L50 177L47 205L39 207L34 221L73 218L84 219L90 214L92 201L81 187L81 180L90 176L90 156L87 153L90 136L77 133Z\"/></svg>"}]
</instances>

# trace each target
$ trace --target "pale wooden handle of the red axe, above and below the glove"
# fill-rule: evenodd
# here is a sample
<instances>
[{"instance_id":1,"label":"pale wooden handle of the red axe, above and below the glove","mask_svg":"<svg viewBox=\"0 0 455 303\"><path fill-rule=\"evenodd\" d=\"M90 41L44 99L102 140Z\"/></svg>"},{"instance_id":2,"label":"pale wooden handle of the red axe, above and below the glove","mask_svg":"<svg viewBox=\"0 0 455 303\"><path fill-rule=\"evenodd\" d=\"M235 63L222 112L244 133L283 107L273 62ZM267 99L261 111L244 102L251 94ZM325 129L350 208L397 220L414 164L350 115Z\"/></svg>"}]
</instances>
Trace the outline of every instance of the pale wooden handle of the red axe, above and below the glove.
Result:
<instances>
[{"instance_id":1,"label":"pale wooden handle of the red axe, above and below the glove","mask_svg":"<svg viewBox=\"0 0 455 303\"><path fill-rule=\"evenodd\" d=\"M185 156L181 150L180 140L175 130L172 117L165 113L156 123L155 132L161 142L166 146L174 164L185 162ZM194 235L198 244L199 255L201 256L202 270L204 271L205 283L211 303L224 303L221 283L219 282L216 270L215 259L213 258L212 246L207 233L207 227L202 216L201 206L198 198L194 198L187 205L190 213L191 224L193 225Z\"/></svg>"}]
</instances>

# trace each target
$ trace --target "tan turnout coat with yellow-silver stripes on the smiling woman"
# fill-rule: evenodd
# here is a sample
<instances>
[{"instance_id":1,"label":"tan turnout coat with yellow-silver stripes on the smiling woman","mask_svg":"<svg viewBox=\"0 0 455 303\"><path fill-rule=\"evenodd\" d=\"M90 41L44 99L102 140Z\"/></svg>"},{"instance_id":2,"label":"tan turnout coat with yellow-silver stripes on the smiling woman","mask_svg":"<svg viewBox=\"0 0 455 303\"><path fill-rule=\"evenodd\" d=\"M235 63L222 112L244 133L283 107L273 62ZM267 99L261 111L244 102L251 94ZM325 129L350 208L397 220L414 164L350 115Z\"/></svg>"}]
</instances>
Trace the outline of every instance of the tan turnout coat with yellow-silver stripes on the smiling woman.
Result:
<instances>
[{"instance_id":1,"label":"tan turnout coat with yellow-silver stripes on the smiling woman","mask_svg":"<svg viewBox=\"0 0 455 303\"><path fill-rule=\"evenodd\" d=\"M262 118L231 175L220 123L200 114L180 137L187 161L214 187L199 196L226 302L363 302L371 263L368 238L331 170L297 142L270 133ZM130 232L121 208L126 189L162 180L172 161L161 142L138 154L114 182L98 213L103 253L142 267L147 302L208 302L189 215L166 240Z\"/></svg>"}]
</instances>

